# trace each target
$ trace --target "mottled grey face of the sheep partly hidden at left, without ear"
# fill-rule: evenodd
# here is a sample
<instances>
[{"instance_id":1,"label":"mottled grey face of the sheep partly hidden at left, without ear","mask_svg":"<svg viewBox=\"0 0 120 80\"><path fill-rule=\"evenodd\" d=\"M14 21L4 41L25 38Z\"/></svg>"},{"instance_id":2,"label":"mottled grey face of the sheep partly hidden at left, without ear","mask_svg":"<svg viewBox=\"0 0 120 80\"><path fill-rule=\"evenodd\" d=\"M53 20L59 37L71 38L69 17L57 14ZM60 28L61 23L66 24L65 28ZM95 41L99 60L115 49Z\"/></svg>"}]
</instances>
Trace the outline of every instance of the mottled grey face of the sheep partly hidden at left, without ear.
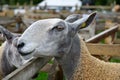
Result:
<instances>
[{"instance_id":1,"label":"mottled grey face of the sheep partly hidden at left, without ear","mask_svg":"<svg viewBox=\"0 0 120 80\"><path fill-rule=\"evenodd\" d=\"M15 67L20 67L22 66L26 61L23 59L23 57L19 54L16 44L18 41L18 38L20 35L14 35L13 40L10 42L6 42L6 49L4 50L4 53L7 53L8 51L8 61L9 63L13 64Z\"/></svg>"}]
</instances>

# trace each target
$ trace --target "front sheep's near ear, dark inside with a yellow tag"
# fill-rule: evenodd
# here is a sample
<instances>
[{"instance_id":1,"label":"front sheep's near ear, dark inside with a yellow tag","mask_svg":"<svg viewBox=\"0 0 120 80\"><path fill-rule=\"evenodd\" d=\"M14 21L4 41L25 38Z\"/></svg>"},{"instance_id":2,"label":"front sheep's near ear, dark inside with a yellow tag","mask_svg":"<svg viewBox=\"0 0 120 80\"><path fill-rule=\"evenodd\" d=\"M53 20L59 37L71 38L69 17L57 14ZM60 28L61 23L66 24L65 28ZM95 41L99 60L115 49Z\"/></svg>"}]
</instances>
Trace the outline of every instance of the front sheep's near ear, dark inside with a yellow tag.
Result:
<instances>
[{"instance_id":1,"label":"front sheep's near ear, dark inside with a yellow tag","mask_svg":"<svg viewBox=\"0 0 120 80\"><path fill-rule=\"evenodd\" d=\"M76 31L79 31L79 29L86 28L88 27L89 24L92 23L96 16L96 12L91 13L88 16L84 16L83 18L75 21L73 23L73 27L75 28Z\"/></svg>"}]
</instances>

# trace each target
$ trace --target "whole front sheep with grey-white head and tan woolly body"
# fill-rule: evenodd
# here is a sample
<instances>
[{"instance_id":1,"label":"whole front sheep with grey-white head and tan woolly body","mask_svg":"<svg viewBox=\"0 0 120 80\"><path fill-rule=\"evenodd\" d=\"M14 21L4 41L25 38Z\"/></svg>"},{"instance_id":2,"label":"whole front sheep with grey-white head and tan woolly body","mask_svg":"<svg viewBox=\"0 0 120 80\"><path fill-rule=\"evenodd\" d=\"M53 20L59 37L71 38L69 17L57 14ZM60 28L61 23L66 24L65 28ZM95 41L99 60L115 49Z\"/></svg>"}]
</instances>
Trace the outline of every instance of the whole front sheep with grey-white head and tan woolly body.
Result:
<instances>
[{"instance_id":1,"label":"whole front sheep with grey-white head and tan woolly body","mask_svg":"<svg viewBox=\"0 0 120 80\"><path fill-rule=\"evenodd\" d=\"M73 23L62 19L39 20L18 39L18 51L25 59L54 56L62 66L66 80L120 80L120 64L91 56L77 34L95 15L92 13Z\"/></svg>"}]
</instances>

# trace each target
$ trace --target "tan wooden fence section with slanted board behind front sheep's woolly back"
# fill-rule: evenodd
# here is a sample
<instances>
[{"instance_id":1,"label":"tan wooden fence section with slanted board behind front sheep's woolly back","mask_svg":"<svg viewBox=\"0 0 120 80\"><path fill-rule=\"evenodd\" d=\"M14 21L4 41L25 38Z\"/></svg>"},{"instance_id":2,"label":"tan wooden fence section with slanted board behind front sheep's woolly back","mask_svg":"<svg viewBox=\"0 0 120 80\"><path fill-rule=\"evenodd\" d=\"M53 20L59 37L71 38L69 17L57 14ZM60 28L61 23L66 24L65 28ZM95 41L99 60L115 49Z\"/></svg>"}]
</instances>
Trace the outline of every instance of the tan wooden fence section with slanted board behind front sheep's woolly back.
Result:
<instances>
[{"instance_id":1,"label":"tan wooden fence section with slanted board behind front sheep's woolly back","mask_svg":"<svg viewBox=\"0 0 120 80\"><path fill-rule=\"evenodd\" d=\"M119 30L119 25L116 25L86 40L87 47L90 53L92 55L120 56L120 43L114 44L116 43L116 40L119 40L115 36L118 30ZM108 36L112 36L110 37L112 44L95 44L100 42L102 39L105 39Z\"/></svg>"}]
</instances>

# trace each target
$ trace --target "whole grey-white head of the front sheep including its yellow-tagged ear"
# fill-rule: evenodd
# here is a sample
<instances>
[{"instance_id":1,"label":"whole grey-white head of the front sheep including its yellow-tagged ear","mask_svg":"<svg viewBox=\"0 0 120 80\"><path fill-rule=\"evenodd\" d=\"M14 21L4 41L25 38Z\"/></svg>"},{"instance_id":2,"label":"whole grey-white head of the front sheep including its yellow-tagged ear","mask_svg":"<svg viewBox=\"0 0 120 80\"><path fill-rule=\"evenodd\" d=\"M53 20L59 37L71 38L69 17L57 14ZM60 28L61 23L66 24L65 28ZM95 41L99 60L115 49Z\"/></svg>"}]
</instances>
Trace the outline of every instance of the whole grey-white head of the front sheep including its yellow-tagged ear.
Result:
<instances>
[{"instance_id":1,"label":"whole grey-white head of the front sheep including its yellow-tagged ear","mask_svg":"<svg viewBox=\"0 0 120 80\"><path fill-rule=\"evenodd\" d=\"M69 20L45 19L33 23L19 38L18 51L25 58L31 56L61 57L69 53L72 39L82 27L87 27L96 13L70 23Z\"/></svg>"}]
</instances>

